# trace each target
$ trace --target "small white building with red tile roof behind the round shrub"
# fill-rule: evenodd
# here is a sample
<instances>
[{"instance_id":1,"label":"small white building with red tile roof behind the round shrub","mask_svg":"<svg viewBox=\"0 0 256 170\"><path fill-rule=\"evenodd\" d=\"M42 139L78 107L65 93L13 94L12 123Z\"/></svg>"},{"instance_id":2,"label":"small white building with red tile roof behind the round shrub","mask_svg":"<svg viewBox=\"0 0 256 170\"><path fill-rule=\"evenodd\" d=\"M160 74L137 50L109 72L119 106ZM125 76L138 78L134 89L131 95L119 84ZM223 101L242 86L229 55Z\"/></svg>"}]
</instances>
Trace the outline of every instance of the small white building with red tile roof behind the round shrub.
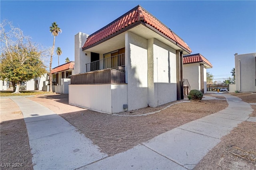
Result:
<instances>
[{"instance_id":1,"label":"small white building with red tile roof behind the round shrub","mask_svg":"<svg viewBox=\"0 0 256 170\"><path fill-rule=\"evenodd\" d=\"M206 68L212 68L212 64L199 53L184 55L183 64L183 78L188 80L190 89L206 93Z\"/></svg>"}]
</instances>

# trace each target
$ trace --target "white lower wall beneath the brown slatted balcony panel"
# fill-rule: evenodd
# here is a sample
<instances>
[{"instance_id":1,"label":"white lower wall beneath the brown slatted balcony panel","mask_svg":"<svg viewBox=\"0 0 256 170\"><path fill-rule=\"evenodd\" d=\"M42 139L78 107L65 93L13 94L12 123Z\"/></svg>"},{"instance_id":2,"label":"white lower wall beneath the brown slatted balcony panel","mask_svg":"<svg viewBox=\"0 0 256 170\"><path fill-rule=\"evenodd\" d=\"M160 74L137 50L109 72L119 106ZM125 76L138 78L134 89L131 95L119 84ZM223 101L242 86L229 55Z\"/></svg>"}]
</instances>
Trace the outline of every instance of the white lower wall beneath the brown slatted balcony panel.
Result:
<instances>
[{"instance_id":1,"label":"white lower wall beneath the brown slatted balcony panel","mask_svg":"<svg viewBox=\"0 0 256 170\"><path fill-rule=\"evenodd\" d=\"M124 111L126 84L71 84L69 104L104 113Z\"/></svg>"}]
</instances>

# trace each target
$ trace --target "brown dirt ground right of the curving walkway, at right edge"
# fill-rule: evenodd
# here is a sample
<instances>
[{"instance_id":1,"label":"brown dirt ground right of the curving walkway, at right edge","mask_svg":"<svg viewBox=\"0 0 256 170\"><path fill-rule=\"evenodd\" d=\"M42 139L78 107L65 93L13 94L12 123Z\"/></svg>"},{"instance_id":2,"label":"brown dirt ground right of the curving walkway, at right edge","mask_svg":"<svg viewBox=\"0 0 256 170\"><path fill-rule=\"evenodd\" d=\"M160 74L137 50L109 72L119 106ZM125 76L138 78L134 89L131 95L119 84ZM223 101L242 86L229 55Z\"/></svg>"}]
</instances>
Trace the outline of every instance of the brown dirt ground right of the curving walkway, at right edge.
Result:
<instances>
[{"instance_id":1,"label":"brown dirt ground right of the curving walkway, at right edge","mask_svg":"<svg viewBox=\"0 0 256 170\"><path fill-rule=\"evenodd\" d=\"M256 103L256 94L232 93L244 102ZM256 117L256 105L250 116ZM222 137L195 170L256 170L256 123L244 121Z\"/></svg>"}]
</instances>

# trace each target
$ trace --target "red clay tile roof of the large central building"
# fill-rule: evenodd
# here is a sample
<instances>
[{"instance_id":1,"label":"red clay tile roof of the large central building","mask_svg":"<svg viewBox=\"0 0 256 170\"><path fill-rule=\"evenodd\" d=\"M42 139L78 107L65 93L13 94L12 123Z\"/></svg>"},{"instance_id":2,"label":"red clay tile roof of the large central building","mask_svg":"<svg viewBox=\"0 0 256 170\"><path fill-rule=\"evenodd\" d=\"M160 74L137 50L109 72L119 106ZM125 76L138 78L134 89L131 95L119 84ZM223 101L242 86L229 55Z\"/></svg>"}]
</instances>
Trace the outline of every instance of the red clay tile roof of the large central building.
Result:
<instances>
[{"instance_id":1,"label":"red clay tile roof of the large central building","mask_svg":"<svg viewBox=\"0 0 256 170\"><path fill-rule=\"evenodd\" d=\"M95 43L98 43L99 41L103 40L104 38L117 33L121 29L124 29L125 27L132 25L138 21L142 21L148 25L151 25L156 30L158 30L160 33L164 34L166 37L172 39L177 44L182 46L184 49L186 49L188 52L192 52L190 47L180 38L178 35L176 35L172 30L170 30L166 25L164 25L161 21L156 19L152 14L144 10L141 6L136 6L126 14L122 15L118 19L112 21L102 29L96 31L95 33L92 33L84 43L83 49L86 47L89 47L90 45L93 45Z\"/></svg>"}]
</instances>

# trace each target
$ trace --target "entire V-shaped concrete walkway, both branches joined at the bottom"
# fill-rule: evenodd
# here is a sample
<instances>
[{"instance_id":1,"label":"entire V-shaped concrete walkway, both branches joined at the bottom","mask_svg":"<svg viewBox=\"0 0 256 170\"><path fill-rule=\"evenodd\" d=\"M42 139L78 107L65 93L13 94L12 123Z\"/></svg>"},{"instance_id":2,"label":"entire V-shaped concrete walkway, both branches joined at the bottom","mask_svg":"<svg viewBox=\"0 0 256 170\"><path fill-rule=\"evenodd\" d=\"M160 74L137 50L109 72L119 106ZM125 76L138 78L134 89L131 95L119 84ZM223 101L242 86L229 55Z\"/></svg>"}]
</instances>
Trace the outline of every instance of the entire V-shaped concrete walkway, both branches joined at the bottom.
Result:
<instances>
[{"instance_id":1,"label":"entire V-shaped concrete walkway, both branches joined at the bottom","mask_svg":"<svg viewBox=\"0 0 256 170\"><path fill-rule=\"evenodd\" d=\"M229 106L191 121L154 139L108 157L90 139L50 109L24 97L11 98L20 107L34 169L193 169L242 121L249 120L250 104L222 94Z\"/></svg>"}]
</instances>

